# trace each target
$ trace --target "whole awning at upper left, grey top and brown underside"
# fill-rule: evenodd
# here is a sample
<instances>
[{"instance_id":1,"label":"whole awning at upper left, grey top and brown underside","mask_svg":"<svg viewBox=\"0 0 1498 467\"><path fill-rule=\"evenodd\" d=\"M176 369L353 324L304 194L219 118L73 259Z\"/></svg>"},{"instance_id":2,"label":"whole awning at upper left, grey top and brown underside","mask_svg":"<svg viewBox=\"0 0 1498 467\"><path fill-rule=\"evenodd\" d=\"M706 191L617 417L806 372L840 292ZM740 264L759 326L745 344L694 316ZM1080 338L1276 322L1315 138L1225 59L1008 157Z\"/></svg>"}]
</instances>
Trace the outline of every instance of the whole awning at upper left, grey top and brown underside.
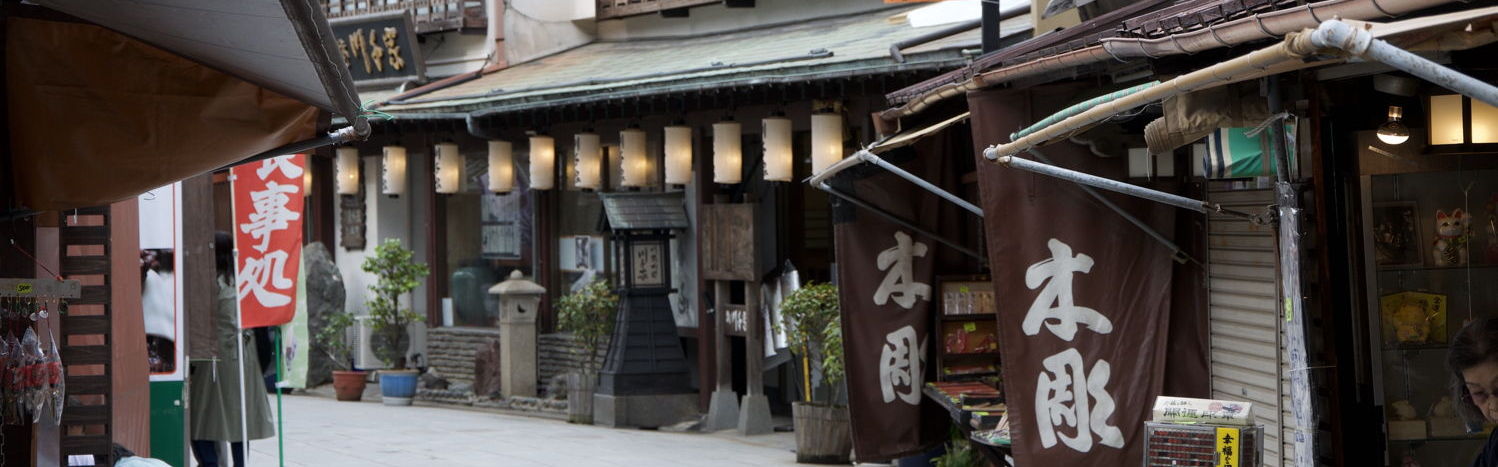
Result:
<instances>
[{"instance_id":1,"label":"whole awning at upper left, grey top and brown underside","mask_svg":"<svg viewBox=\"0 0 1498 467\"><path fill-rule=\"evenodd\" d=\"M6 18L10 208L109 204L295 147L319 109L363 126L316 1L37 3L99 24Z\"/></svg>"}]
</instances>

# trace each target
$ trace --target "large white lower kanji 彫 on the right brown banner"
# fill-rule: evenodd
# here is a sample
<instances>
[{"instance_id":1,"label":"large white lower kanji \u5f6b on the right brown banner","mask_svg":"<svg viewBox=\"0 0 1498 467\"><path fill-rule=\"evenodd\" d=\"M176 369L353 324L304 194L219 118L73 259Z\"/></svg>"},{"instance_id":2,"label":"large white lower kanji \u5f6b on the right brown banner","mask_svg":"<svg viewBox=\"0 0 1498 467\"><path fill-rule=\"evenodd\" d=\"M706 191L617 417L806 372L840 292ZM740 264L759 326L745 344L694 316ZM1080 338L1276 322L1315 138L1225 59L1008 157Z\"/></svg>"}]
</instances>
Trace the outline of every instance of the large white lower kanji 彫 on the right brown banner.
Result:
<instances>
[{"instance_id":1,"label":"large white lower kanji \u5f6b on the right brown banner","mask_svg":"<svg viewBox=\"0 0 1498 467\"><path fill-rule=\"evenodd\" d=\"M1113 416L1113 397L1107 383L1112 365L1100 359L1086 371L1082 353L1067 349L1047 356L1041 362L1046 370L1035 382L1035 424L1043 448L1056 446L1056 440L1079 452L1091 452L1094 434L1097 443L1109 448L1124 448L1124 431L1109 424ZM1056 433L1056 428L1074 428L1074 436Z\"/></svg>"}]
</instances>

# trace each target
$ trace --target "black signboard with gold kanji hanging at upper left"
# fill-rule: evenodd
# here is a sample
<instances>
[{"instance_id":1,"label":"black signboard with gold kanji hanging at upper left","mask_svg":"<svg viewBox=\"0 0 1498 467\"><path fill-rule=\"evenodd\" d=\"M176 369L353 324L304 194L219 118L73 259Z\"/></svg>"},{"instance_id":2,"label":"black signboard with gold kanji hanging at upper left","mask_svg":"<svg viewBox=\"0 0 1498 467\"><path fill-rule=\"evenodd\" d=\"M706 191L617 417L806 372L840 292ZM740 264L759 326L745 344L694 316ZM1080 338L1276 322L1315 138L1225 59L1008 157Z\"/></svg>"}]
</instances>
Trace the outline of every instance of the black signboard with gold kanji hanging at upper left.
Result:
<instances>
[{"instance_id":1,"label":"black signboard with gold kanji hanging at upper left","mask_svg":"<svg viewBox=\"0 0 1498 467\"><path fill-rule=\"evenodd\" d=\"M355 84L425 79L421 45L406 10L328 21Z\"/></svg>"}]
</instances>

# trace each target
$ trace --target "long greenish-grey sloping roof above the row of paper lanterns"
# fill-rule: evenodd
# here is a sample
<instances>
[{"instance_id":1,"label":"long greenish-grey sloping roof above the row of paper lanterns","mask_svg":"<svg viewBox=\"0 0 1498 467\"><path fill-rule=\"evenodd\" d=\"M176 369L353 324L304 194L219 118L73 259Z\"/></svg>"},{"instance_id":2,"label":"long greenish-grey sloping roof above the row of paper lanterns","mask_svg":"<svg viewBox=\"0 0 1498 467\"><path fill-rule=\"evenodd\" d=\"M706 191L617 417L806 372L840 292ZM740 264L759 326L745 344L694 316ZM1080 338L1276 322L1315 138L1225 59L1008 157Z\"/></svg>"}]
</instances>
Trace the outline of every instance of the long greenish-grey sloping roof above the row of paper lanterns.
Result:
<instances>
[{"instance_id":1,"label":"long greenish-grey sloping roof above the row of paper lanterns","mask_svg":"<svg viewBox=\"0 0 1498 467\"><path fill-rule=\"evenodd\" d=\"M881 73L951 69L966 64L960 49L977 48L980 30L959 33L890 57L890 45L939 27L912 28L893 16L912 7L809 19L674 39L593 42L433 91L386 112L449 112L545 105L617 90L673 91L682 87L767 84L818 73ZM1029 24L1008 25L1028 30ZM1010 31L1013 33L1013 31Z\"/></svg>"}]
</instances>

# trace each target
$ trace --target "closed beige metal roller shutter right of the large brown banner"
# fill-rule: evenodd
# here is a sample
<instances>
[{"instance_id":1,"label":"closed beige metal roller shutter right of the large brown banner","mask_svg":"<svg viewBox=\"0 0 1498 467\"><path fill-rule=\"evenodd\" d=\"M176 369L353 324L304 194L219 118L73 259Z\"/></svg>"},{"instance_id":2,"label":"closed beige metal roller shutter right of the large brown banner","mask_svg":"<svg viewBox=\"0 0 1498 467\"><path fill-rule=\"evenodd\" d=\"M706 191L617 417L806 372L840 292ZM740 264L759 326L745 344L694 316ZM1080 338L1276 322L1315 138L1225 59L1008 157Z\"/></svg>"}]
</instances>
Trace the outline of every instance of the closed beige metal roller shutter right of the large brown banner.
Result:
<instances>
[{"instance_id":1,"label":"closed beige metal roller shutter right of the large brown banner","mask_svg":"<svg viewBox=\"0 0 1498 467\"><path fill-rule=\"evenodd\" d=\"M1207 199L1258 213L1275 202L1275 193L1213 181ZM1276 313L1275 228L1213 214L1207 217L1207 241L1212 397L1254 403L1254 416L1264 425L1264 466L1281 466L1293 458L1293 446L1284 436L1290 415Z\"/></svg>"}]
</instances>

